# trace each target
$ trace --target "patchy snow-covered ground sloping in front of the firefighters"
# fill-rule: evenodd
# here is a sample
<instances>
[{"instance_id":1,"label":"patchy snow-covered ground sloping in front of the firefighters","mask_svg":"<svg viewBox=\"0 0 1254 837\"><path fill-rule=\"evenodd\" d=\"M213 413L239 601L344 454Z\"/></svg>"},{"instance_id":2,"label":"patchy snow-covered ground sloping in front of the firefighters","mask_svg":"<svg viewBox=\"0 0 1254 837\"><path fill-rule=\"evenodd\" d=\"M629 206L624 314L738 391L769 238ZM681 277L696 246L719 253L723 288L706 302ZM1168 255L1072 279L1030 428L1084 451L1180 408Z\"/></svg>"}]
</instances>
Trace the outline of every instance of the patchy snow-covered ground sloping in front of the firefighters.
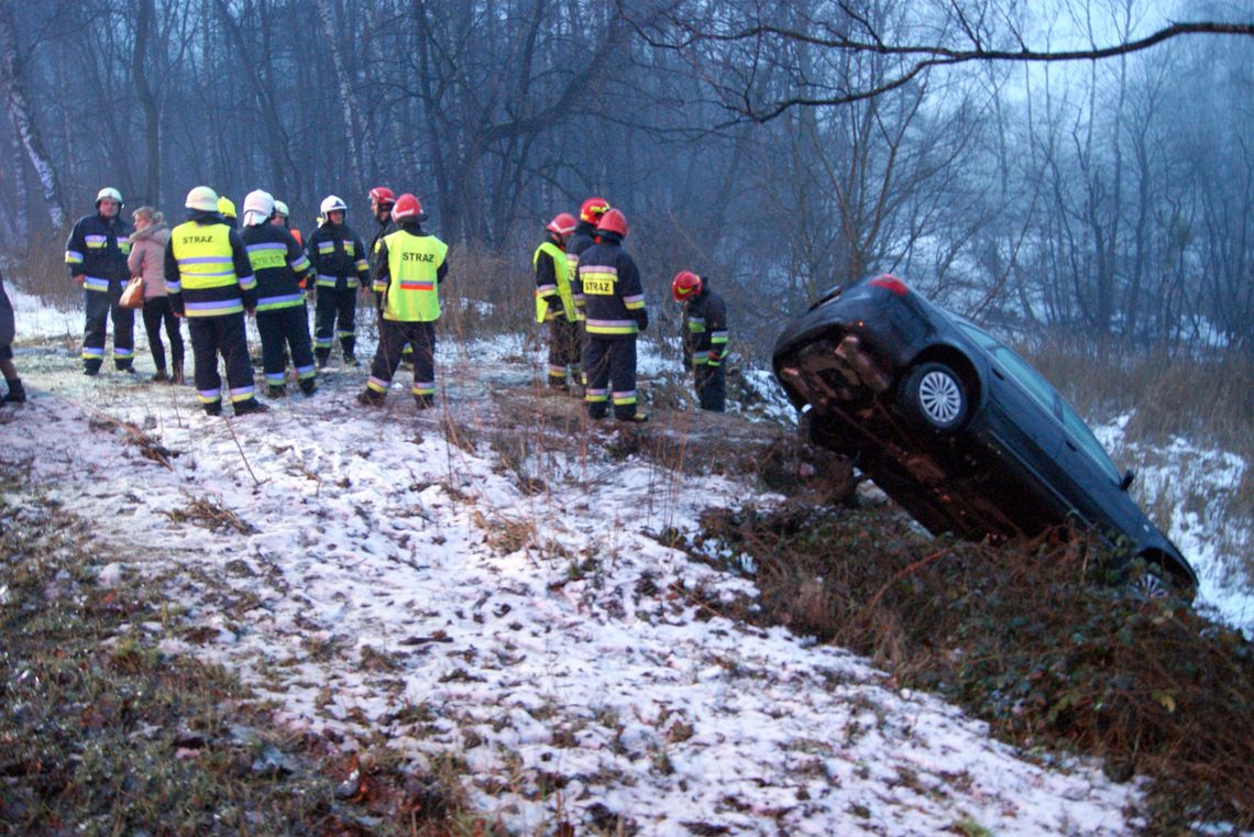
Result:
<instances>
[{"instance_id":1,"label":"patchy snow-covered ground sloping in front of the firefighters","mask_svg":"<svg viewBox=\"0 0 1254 837\"><path fill-rule=\"evenodd\" d=\"M558 427L539 405L561 396L539 392L534 415L508 416L534 444L504 456L495 396L543 377L517 341L445 343L428 413L404 373L406 390L369 411L354 401L365 371L332 370L312 398L211 418L191 387L109 365L83 377L79 316L10 296L31 400L6 410L0 456L30 464L25 501L64 504L129 555L102 565L102 583L161 583L203 630L140 628L169 654L229 667L277 720L346 751L386 746L418 769L459 759L472 798L512 833L1140 823L1137 783L1030 759L863 659L701 604L754 590L651 533L693 529L751 486L612 455L617 430L573 402Z\"/></svg>"}]
</instances>

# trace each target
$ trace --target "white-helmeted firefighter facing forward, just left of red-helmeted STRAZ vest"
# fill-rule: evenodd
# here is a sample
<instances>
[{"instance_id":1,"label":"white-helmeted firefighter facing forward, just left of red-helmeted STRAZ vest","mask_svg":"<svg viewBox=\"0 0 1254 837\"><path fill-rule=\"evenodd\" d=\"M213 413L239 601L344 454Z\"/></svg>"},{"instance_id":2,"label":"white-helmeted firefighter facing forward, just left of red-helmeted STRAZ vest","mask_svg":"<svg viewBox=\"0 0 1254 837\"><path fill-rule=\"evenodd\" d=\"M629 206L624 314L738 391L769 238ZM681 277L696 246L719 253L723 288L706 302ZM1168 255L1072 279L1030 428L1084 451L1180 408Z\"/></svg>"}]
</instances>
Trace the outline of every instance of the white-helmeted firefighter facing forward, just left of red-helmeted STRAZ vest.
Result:
<instances>
[{"instance_id":1,"label":"white-helmeted firefighter facing forward, just left of red-helmeted STRAZ vest","mask_svg":"<svg viewBox=\"0 0 1254 837\"><path fill-rule=\"evenodd\" d=\"M314 308L314 356L319 368L331 356L334 337L340 338L344 362L356 366L357 343L354 321L357 316L357 287L370 287L370 264L366 248L357 233L344 223L349 207L334 194L322 200L322 226L310 236L310 261L314 263L317 287ZM336 331L339 321L339 331Z\"/></svg>"}]
</instances>

